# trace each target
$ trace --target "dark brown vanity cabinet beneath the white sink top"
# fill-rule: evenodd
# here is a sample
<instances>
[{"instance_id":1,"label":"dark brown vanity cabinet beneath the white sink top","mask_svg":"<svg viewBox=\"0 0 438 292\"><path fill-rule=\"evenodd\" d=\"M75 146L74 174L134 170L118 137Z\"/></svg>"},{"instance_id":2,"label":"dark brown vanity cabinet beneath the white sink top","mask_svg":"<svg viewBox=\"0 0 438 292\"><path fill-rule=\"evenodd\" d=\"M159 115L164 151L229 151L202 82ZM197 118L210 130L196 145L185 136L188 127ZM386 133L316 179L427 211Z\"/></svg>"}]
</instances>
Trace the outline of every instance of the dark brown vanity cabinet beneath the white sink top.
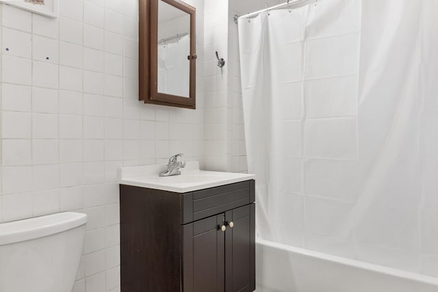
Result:
<instances>
[{"instance_id":1,"label":"dark brown vanity cabinet beneath the white sink top","mask_svg":"<svg viewBox=\"0 0 438 292\"><path fill-rule=\"evenodd\" d=\"M255 290L254 181L179 194L120 185L121 291Z\"/></svg>"}]
</instances>

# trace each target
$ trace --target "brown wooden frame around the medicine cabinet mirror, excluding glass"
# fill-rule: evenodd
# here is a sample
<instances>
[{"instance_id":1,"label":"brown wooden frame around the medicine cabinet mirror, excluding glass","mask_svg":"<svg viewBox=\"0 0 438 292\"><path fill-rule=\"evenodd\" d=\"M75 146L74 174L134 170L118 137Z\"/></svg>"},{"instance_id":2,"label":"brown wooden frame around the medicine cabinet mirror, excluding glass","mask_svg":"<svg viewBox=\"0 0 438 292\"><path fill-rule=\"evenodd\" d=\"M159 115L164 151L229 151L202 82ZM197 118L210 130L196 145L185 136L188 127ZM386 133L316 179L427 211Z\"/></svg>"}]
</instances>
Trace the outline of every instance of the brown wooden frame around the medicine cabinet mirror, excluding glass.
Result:
<instances>
[{"instance_id":1,"label":"brown wooden frame around the medicine cabinet mirror, excluding glass","mask_svg":"<svg viewBox=\"0 0 438 292\"><path fill-rule=\"evenodd\" d=\"M189 97L158 92L158 1L190 14ZM140 0L139 8L139 100L196 109L196 8L179 0Z\"/></svg>"}]
</instances>

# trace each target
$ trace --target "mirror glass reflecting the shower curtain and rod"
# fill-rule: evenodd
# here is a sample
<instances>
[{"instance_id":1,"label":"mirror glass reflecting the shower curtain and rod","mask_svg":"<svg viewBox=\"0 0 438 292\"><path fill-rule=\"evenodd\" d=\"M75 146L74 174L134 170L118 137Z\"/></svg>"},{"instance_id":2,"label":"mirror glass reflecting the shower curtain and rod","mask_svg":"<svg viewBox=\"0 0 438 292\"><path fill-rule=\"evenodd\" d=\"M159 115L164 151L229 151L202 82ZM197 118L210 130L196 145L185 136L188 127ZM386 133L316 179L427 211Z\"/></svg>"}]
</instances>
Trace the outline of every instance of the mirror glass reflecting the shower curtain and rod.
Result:
<instances>
[{"instance_id":1,"label":"mirror glass reflecting the shower curtain and rod","mask_svg":"<svg viewBox=\"0 0 438 292\"><path fill-rule=\"evenodd\" d=\"M190 97L190 14L158 1L157 92Z\"/></svg>"}]
</instances>

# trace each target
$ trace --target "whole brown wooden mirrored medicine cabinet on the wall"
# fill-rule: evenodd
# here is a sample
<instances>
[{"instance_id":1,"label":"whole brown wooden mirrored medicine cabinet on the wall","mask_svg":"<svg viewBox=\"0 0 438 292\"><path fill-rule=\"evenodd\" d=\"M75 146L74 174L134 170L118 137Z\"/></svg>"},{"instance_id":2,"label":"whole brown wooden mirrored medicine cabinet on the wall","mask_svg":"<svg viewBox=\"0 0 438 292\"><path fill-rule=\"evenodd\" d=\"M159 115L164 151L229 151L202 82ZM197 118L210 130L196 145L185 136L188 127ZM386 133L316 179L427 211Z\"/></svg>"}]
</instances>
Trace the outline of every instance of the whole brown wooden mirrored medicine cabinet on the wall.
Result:
<instances>
[{"instance_id":1,"label":"whole brown wooden mirrored medicine cabinet on the wall","mask_svg":"<svg viewBox=\"0 0 438 292\"><path fill-rule=\"evenodd\" d=\"M178 0L140 1L139 85L145 103L196 107L195 11Z\"/></svg>"}]
</instances>

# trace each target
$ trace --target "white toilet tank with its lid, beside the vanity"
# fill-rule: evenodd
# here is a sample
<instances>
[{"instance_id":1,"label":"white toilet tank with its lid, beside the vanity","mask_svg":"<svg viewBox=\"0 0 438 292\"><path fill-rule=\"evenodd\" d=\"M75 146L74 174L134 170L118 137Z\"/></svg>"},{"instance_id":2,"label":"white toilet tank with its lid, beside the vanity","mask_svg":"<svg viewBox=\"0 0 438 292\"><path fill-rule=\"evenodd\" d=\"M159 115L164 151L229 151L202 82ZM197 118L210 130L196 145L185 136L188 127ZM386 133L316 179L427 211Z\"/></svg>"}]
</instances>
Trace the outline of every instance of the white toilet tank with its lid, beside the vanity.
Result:
<instances>
[{"instance_id":1,"label":"white toilet tank with its lid, beside the vanity","mask_svg":"<svg viewBox=\"0 0 438 292\"><path fill-rule=\"evenodd\" d=\"M0 224L0 291L71 292L86 223L65 212Z\"/></svg>"}]
</instances>

